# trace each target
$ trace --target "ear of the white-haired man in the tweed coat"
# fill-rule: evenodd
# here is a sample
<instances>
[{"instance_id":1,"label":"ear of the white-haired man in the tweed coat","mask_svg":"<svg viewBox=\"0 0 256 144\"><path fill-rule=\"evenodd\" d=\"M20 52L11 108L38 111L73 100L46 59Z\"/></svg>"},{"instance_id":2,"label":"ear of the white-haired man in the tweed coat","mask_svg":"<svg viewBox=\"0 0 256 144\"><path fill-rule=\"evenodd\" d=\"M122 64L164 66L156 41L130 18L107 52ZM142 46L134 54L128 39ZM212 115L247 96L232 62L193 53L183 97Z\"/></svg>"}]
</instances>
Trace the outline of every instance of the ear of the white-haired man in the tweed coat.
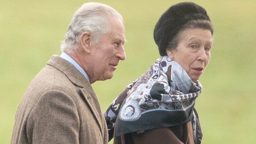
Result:
<instances>
[{"instance_id":1,"label":"ear of the white-haired man in the tweed coat","mask_svg":"<svg viewBox=\"0 0 256 144\"><path fill-rule=\"evenodd\" d=\"M89 31L85 31L80 36L80 45L86 53L91 52L91 33Z\"/></svg>"}]
</instances>

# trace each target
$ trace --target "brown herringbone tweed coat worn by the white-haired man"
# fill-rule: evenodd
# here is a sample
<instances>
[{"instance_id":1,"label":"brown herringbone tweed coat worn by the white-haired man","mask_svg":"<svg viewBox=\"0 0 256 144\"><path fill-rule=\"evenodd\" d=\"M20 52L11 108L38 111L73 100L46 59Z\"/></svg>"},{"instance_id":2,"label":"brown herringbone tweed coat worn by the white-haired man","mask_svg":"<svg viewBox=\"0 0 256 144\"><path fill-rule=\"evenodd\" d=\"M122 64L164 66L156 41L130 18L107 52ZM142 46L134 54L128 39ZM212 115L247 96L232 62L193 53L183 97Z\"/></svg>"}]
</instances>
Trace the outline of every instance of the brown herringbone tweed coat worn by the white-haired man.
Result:
<instances>
[{"instance_id":1,"label":"brown herringbone tweed coat worn by the white-haired man","mask_svg":"<svg viewBox=\"0 0 256 144\"><path fill-rule=\"evenodd\" d=\"M18 106L11 143L107 142L106 122L90 83L75 66L53 55Z\"/></svg>"}]
</instances>

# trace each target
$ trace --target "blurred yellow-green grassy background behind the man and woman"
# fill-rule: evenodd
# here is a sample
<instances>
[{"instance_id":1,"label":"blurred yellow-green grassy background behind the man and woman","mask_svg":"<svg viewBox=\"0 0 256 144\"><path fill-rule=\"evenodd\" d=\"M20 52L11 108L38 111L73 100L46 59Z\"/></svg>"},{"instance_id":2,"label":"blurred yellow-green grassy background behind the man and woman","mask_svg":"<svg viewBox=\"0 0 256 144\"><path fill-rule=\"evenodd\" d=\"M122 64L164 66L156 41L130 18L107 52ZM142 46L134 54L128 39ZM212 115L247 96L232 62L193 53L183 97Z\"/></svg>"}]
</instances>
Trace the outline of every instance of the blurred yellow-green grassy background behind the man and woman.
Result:
<instances>
[{"instance_id":1,"label":"blurred yellow-green grassy background behind the man and woman","mask_svg":"<svg viewBox=\"0 0 256 144\"><path fill-rule=\"evenodd\" d=\"M10 143L14 117L27 86L53 54L61 54L74 12L88 1L0 3L0 143ZM98 1L123 15L127 59L114 77L92 84L104 112L113 99L159 57L153 29L160 15L181 1ZM193 1L214 25L212 58L196 101L203 144L256 143L256 2ZM112 143L112 142L110 142Z\"/></svg>"}]
</instances>

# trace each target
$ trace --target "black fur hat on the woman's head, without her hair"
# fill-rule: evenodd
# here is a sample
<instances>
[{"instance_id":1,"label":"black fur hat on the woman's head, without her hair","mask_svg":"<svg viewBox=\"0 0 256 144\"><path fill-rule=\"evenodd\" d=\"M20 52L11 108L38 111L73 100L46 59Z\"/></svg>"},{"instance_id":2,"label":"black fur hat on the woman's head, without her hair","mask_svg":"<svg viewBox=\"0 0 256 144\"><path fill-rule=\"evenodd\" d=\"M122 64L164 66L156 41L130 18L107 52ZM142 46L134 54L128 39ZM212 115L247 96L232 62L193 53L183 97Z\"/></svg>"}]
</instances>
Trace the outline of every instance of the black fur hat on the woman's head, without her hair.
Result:
<instances>
[{"instance_id":1,"label":"black fur hat on the woman's head, without her hair","mask_svg":"<svg viewBox=\"0 0 256 144\"><path fill-rule=\"evenodd\" d=\"M166 48L181 27L196 19L210 21L206 10L193 2L177 3L162 14L154 29L154 40L161 56L167 55Z\"/></svg>"}]
</instances>

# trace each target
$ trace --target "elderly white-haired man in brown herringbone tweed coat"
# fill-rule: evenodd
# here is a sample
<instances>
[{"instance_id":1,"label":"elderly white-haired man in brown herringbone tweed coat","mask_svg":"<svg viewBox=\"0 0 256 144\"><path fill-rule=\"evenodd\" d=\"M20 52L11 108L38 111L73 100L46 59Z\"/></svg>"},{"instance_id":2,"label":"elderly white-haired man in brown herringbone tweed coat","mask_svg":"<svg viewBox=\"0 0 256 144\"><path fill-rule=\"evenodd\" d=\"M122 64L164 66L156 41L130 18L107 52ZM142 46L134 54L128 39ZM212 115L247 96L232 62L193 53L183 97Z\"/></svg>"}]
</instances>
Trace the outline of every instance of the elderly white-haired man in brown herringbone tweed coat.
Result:
<instances>
[{"instance_id":1,"label":"elderly white-haired man in brown herringbone tweed coat","mask_svg":"<svg viewBox=\"0 0 256 144\"><path fill-rule=\"evenodd\" d=\"M101 3L74 14L62 54L53 55L26 91L11 143L107 143L106 122L91 84L113 77L125 59L122 16Z\"/></svg>"}]
</instances>

